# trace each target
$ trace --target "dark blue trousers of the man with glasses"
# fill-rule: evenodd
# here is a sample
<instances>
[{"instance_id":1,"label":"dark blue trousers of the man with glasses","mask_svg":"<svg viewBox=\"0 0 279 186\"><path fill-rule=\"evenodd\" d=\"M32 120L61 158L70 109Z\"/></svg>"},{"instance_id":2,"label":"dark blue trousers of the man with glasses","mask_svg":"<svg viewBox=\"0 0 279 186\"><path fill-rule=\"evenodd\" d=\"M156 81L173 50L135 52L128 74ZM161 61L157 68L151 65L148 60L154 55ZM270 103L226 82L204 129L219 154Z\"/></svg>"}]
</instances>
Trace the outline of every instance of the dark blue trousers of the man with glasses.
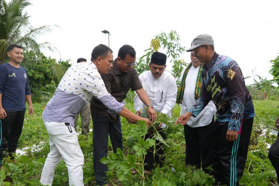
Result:
<instances>
[{"instance_id":1,"label":"dark blue trousers of the man with glasses","mask_svg":"<svg viewBox=\"0 0 279 186\"><path fill-rule=\"evenodd\" d=\"M93 121L93 168L96 177L96 185L107 184L106 172L107 165L100 162L103 157L107 157L108 139L110 140L113 152L116 153L117 148L123 151L123 137L121 130L121 122L119 119L112 123L108 117L92 118Z\"/></svg>"}]
</instances>

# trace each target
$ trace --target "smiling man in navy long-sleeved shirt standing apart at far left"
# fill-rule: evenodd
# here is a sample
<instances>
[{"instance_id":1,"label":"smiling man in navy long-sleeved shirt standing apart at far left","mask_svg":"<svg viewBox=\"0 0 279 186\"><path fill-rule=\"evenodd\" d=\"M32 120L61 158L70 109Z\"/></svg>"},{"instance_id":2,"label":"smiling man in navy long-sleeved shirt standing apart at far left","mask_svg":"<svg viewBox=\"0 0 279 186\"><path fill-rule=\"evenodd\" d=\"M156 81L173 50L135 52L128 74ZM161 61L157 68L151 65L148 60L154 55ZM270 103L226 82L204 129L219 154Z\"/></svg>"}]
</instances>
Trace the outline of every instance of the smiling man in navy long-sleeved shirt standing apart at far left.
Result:
<instances>
[{"instance_id":1,"label":"smiling man in navy long-sleeved shirt standing apart at far left","mask_svg":"<svg viewBox=\"0 0 279 186\"><path fill-rule=\"evenodd\" d=\"M8 156L14 159L11 154L16 152L21 135L25 100L29 104L28 114L33 114L27 71L19 65L23 60L23 47L11 45L7 51L10 61L0 65L0 165L3 151L7 150Z\"/></svg>"}]
</instances>

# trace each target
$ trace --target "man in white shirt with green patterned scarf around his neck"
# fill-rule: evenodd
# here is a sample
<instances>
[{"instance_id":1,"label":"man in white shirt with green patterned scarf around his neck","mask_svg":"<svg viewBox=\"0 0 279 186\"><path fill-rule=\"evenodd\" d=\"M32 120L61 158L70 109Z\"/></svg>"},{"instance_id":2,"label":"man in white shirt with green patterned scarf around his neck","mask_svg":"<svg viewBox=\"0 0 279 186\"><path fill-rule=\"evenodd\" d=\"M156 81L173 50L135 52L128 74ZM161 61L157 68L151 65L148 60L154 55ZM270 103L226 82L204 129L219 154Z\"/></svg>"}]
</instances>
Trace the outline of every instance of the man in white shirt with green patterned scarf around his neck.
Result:
<instances>
[{"instance_id":1,"label":"man in white shirt with green patterned scarf around his neck","mask_svg":"<svg viewBox=\"0 0 279 186\"><path fill-rule=\"evenodd\" d=\"M201 93L201 74L203 64L191 52L191 63L182 70L181 84L178 90L177 103L180 104L180 115L186 113L196 103ZM184 125L186 142L186 165L196 166L209 173L205 167L212 164L212 126L216 107L213 101L202 110L197 117L191 117Z\"/></svg>"}]
</instances>

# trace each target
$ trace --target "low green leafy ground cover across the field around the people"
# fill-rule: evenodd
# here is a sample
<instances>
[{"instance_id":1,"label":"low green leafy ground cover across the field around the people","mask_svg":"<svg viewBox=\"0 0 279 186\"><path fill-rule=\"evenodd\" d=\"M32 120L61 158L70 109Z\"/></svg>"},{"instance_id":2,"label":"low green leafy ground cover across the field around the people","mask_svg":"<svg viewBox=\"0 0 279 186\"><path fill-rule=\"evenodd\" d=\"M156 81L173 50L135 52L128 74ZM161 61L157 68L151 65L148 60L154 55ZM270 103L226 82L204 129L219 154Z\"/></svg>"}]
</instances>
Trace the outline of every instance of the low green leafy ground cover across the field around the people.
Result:
<instances>
[{"instance_id":1,"label":"low green leafy ground cover across the field around the people","mask_svg":"<svg viewBox=\"0 0 279 186\"><path fill-rule=\"evenodd\" d=\"M7 162L0 170L0 185L40 185L39 179L43 164L49 153L48 134L43 124L42 112L46 105L44 103L34 103L34 114L25 115L25 122L18 143L18 148L29 147L25 156L16 156L17 162ZM268 131L276 129L275 120L279 116L279 101L277 100L256 100L254 101L255 113L254 127L251 135L249 153L245 165L245 171L240 185L274 185L276 184L275 170L268 159L268 149L266 144L272 144L277 136L265 135L263 128ZM128 109L133 110L133 104L126 103ZM173 109L174 117L178 117L180 107L178 105ZM128 124L125 118L122 121L124 154L135 154L133 146L137 143L137 125ZM90 126L92 128L92 125ZM80 118L78 120L78 130L81 130ZM145 180L145 185L209 185L212 178L203 171L195 170L191 167L185 167L185 139L182 126L173 127L168 131L169 136L166 140L169 148L166 148L166 163L163 168L157 168L152 177ZM92 163L92 132L88 135L88 141L85 136L79 135L79 144L84 153L83 178L84 184L95 186ZM44 141L43 148L38 152L31 151L32 145L39 145ZM112 154L111 144L109 142L109 154ZM141 161L142 157L136 157L136 161ZM172 171L174 168L174 171ZM118 182L115 170L109 170L108 178L113 180L115 185L142 185L142 179L135 175L131 180ZM6 183L5 183L6 182ZM55 177L52 186L68 185L68 173L64 161L61 161L55 171Z\"/></svg>"}]
</instances>

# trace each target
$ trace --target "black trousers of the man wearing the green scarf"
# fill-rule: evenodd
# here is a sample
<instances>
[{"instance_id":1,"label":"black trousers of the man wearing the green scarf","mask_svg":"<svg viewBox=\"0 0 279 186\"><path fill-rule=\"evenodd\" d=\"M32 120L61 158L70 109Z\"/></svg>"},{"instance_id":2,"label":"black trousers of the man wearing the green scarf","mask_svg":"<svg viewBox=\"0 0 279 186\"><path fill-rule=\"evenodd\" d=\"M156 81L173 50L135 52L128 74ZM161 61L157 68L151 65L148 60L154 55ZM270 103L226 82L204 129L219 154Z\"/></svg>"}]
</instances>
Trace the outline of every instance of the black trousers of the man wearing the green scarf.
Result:
<instances>
[{"instance_id":1,"label":"black trousers of the man wearing the green scarf","mask_svg":"<svg viewBox=\"0 0 279 186\"><path fill-rule=\"evenodd\" d=\"M214 124L214 117L212 122L206 126L190 127L184 125L184 136L186 142L186 165L196 166L200 169L202 163L202 170L209 173L205 167L212 164L212 127Z\"/></svg>"}]
</instances>

